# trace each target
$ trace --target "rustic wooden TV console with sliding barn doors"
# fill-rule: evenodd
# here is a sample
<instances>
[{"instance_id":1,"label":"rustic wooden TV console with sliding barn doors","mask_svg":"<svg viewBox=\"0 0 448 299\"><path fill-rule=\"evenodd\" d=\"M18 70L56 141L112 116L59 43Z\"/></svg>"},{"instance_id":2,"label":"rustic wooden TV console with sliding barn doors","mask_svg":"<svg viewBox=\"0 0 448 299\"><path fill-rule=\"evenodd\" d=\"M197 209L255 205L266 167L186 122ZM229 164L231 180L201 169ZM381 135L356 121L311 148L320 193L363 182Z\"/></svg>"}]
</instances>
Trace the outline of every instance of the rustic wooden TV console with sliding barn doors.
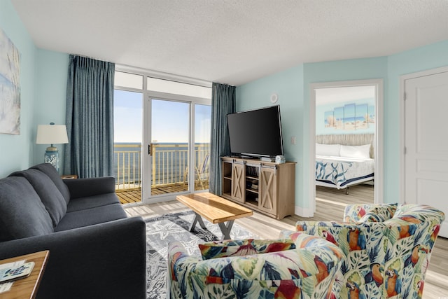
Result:
<instances>
[{"instance_id":1,"label":"rustic wooden TV console with sliding barn doors","mask_svg":"<svg viewBox=\"0 0 448 299\"><path fill-rule=\"evenodd\" d=\"M221 157L222 197L272 218L294 214L295 162Z\"/></svg>"}]
</instances>

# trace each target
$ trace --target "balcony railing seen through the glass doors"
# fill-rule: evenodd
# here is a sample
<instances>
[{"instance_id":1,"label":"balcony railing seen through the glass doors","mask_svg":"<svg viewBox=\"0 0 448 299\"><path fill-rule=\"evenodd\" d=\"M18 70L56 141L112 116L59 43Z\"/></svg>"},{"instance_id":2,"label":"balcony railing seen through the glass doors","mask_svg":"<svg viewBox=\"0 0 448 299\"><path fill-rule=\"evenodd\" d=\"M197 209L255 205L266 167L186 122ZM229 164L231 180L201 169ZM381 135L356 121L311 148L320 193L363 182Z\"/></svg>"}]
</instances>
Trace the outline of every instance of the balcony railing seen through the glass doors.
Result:
<instances>
[{"instance_id":1,"label":"balcony railing seen through the glass doors","mask_svg":"<svg viewBox=\"0 0 448 299\"><path fill-rule=\"evenodd\" d=\"M195 167L202 179L208 177L202 164L209 152L210 144L195 144ZM188 183L188 144L151 144L151 153L151 188ZM114 144L114 163L117 190L141 188L141 144Z\"/></svg>"}]
</instances>

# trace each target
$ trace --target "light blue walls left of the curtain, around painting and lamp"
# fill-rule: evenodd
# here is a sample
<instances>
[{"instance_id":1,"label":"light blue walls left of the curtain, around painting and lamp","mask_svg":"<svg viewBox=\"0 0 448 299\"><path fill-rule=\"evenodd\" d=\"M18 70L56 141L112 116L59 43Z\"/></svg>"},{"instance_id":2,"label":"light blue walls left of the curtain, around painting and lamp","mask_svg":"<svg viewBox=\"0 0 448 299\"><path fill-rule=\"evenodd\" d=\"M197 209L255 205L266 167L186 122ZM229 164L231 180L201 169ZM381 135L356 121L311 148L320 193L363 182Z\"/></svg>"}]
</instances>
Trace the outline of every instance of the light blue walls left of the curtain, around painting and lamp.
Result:
<instances>
[{"instance_id":1,"label":"light blue walls left of the curtain, around painting and lamp","mask_svg":"<svg viewBox=\"0 0 448 299\"><path fill-rule=\"evenodd\" d=\"M1 178L43 162L45 146L35 144L38 124L65 123L69 55L36 48L10 0L0 0L0 28L21 54L20 135L0 134Z\"/></svg>"}]
</instances>

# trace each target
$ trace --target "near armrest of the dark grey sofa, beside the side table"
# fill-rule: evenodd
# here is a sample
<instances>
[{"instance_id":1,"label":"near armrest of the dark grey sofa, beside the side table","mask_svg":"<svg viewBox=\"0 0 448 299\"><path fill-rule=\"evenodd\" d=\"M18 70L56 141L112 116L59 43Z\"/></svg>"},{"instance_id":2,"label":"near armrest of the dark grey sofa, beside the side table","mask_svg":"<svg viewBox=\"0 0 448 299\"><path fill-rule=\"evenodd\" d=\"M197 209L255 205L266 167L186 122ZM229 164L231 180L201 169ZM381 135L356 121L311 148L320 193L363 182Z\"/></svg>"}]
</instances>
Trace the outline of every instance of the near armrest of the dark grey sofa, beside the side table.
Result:
<instances>
[{"instance_id":1,"label":"near armrest of the dark grey sofa, beside the side table","mask_svg":"<svg viewBox=\"0 0 448 299\"><path fill-rule=\"evenodd\" d=\"M146 226L125 218L0 243L0 259L49 250L37 298L146 298Z\"/></svg>"}]
</instances>

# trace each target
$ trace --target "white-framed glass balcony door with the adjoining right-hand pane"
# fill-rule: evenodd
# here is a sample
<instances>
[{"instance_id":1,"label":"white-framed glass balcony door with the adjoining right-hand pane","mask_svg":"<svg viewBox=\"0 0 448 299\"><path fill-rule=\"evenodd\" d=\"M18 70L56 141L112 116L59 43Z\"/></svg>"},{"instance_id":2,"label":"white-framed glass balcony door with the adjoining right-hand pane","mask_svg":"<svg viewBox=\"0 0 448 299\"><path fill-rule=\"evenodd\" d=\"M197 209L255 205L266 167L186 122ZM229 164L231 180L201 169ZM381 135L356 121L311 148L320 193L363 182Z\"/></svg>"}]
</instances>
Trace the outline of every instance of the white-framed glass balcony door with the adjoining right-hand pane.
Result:
<instances>
[{"instance_id":1,"label":"white-framed glass balcony door with the adjoining right-hand pane","mask_svg":"<svg viewBox=\"0 0 448 299\"><path fill-rule=\"evenodd\" d=\"M145 101L146 203L209 188L211 106L181 98L150 95Z\"/></svg>"}]
</instances>

